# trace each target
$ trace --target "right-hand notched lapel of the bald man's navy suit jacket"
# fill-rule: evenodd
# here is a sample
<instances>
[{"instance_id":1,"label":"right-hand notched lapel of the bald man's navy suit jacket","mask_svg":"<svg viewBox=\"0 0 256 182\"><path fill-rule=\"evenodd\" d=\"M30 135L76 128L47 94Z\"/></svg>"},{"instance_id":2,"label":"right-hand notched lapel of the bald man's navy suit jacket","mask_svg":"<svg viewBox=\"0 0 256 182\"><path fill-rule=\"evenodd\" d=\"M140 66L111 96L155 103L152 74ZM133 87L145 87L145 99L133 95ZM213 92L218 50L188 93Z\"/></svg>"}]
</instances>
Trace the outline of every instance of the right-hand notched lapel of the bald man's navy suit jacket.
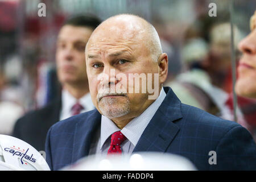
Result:
<instances>
[{"instance_id":1,"label":"right-hand notched lapel of the bald man's navy suit jacket","mask_svg":"<svg viewBox=\"0 0 256 182\"><path fill-rule=\"evenodd\" d=\"M165 87L166 98L144 130L133 152L165 152L179 131L175 120L182 118L181 102L171 88Z\"/></svg>"}]
</instances>

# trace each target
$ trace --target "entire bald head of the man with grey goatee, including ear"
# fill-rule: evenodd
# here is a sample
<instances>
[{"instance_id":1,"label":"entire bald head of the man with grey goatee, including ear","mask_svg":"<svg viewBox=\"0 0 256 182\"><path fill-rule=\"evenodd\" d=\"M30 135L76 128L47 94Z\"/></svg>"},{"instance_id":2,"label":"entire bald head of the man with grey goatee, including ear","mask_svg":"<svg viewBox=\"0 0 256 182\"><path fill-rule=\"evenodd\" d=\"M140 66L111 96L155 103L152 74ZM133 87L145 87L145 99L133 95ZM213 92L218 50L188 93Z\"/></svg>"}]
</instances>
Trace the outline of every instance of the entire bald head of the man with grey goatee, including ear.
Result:
<instances>
[{"instance_id":1,"label":"entire bald head of the man with grey goatee, including ear","mask_svg":"<svg viewBox=\"0 0 256 182\"><path fill-rule=\"evenodd\" d=\"M120 129L154 102L167 78L168 56L155 28L135 15L102 22L85 57L93 104Z\"/></svg>"}]
</instances>

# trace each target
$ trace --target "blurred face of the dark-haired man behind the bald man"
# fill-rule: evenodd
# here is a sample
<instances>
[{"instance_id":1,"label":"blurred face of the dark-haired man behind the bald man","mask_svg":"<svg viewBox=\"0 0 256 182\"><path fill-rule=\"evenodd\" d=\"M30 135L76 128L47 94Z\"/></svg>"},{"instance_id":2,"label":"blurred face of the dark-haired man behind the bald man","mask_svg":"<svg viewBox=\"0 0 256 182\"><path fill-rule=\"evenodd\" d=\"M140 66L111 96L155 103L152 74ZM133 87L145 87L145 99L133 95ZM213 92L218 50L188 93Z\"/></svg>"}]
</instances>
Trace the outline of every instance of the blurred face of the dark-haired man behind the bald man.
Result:
<instances>
[{"instance_id":1,"label":"blurred face of the dark-haired man behind the bald man","mask_svg":"<svg viewBox=\"0 0 256 182\"><path fill-rule=\"evenodd\" d=\"M56 64L59 81L65 86L87 82L84 49L92 28L65 25L57 39Z\"/></svg>"}]
</instances>

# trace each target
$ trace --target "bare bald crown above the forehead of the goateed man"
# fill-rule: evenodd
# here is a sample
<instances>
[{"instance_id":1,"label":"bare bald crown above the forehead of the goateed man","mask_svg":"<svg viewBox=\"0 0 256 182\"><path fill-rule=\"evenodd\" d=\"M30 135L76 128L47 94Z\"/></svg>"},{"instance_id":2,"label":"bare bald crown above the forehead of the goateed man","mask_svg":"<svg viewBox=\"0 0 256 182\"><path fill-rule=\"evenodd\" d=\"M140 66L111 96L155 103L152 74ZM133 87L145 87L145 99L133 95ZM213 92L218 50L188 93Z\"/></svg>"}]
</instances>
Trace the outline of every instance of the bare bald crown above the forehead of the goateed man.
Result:
<instances>
[{"instance_id":1,"label":"bare bald crown above the forehead of the goateed man","mask_svg":"<svg viewBox=\"0 0 256 182\"><path fill-rule=\"evenodd\" d=\"M113 42L125 40L134 44L142 44L148 49L152 61L155 62L162 54L160 39L154 26L137 15L121 14L106 19L94 30L88 45L93 46L98 43L98 40L104 42L109 37Z\"/></svg>"}]
</instances>

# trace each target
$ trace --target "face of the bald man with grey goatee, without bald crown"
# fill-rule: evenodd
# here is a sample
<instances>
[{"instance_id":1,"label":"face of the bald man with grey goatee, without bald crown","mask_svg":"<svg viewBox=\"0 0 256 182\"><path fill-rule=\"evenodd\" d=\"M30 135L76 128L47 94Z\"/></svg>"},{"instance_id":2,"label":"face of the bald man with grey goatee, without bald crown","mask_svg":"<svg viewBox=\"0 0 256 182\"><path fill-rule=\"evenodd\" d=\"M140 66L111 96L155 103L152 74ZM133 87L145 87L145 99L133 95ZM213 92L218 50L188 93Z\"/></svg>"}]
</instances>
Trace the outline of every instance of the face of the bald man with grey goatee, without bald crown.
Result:
<instances>
[{"instance_id":1,"label":"face of the bald man with grey goatee, without bald crown","mask_svg":"<svg viewBox=\"0 0 256 182\"><path fill-rule=\"evenodd\" d=\"M90 38L85 56L90 94L101 114L109 118L136 117L153 102L148 100L148 93L141 92L142 82L135 85L135 79L129 79L129 73L143 73L146 77L147 73L153 73L153 77L159 73L158 63L152 61L150 51L133 32L126 34L121 28L113 31L101 28ZM121 74L125 77L118 77ZM152 83L154 85L154 78ZM136 86L140 92L130 93L129 89L135 90ZM159 86L156 87L159 89Z\"/></svg>"}]
</instances>

